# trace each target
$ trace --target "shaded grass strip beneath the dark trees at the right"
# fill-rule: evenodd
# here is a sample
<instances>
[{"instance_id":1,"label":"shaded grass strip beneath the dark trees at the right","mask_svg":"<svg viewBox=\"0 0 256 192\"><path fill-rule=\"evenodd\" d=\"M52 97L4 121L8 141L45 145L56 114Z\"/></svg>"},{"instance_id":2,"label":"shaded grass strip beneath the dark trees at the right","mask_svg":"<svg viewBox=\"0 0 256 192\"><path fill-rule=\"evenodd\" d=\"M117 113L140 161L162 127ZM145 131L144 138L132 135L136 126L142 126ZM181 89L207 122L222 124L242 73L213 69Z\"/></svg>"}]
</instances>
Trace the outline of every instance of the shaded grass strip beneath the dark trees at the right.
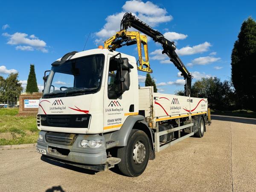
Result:
<instances>
[{"instance_id":1,"label":"shaded grass strip beneath the dark trees at the right","mask_svg":"<svg viewBox=\"0 0 256 192\"><path fill-rule=\"evenodd\" d=\"M212 110L212 115L227 115L227 116L241 116L241 117L247 117L247 118L256 118L256 112L250 111L250 110L236 110L236 111L218 111L218 110Z\"/></svg>"}]
</instances>

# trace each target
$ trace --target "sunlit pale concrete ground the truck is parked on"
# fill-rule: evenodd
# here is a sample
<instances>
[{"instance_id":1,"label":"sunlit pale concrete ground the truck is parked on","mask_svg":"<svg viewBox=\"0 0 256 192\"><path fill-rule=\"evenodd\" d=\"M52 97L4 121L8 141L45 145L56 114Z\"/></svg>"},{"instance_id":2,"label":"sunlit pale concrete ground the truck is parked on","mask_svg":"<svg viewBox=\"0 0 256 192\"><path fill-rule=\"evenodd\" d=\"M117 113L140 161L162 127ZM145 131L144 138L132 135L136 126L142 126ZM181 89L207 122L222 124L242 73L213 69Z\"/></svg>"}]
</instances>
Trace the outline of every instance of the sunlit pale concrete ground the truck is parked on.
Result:
<instances>
[{"instance_id":1,"label":"sunlit pale concrete ground the truck is parked on","mask_svg":"<svg viewBox=\"0 0 256 192\"><path fill-rule=\"evenodd\" d=\"M232 120L232 119L231 119ZM256 125L212 120L156 154L140 177L40 160L35 148L0 151L0 191L255 191Z\"/></svg>"}]
</instances>

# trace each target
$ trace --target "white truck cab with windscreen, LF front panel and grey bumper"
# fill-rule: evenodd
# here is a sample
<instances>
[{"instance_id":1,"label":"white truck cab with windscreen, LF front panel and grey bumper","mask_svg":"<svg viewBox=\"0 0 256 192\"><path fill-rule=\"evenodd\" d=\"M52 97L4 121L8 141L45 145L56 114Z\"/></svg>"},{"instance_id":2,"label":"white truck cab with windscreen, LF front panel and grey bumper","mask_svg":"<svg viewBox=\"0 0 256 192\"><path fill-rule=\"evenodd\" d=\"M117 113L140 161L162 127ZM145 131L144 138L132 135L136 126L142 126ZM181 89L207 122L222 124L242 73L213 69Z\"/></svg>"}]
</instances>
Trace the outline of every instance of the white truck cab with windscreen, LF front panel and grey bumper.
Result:
<instances>
[{"instance_id":1,"label":"white truck cab with windscreen, LF front panel and grey bumper","mask_svg":"<svg viewBox=\"0 0 256 192\"><path fill-rule=\"evenodd\" d=\"M124 145L111 140L113 132L129 116L138 115L136 60L108 49L66 56L55 61L44 77L37 116L38 152L73 163L105 164L106 149Z\"/></svg>"}]
</instances>

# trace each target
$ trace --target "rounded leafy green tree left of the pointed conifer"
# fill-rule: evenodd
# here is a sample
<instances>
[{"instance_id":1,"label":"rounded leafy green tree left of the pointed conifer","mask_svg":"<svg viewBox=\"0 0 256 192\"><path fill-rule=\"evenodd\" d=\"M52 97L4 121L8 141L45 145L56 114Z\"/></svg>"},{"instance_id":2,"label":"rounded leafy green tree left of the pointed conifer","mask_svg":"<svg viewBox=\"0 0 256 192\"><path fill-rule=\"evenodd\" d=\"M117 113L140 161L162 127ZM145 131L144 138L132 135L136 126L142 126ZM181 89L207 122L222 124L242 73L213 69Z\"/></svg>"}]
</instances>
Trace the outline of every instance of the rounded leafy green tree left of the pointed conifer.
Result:
<instances>
[{"instance_id":1,"label":"rounded leafy green tree left of the pointed conifer","mask_svg":"<svg viewBox=\"0 0 256 192\"><path fill-rule=\"evenodd\" d=\"M18 73L11 73L6 78L6 87L4 90L4 99L8 102L17 102L21 91L21 83L18 81Z\"/></svg>"}]
</instances>

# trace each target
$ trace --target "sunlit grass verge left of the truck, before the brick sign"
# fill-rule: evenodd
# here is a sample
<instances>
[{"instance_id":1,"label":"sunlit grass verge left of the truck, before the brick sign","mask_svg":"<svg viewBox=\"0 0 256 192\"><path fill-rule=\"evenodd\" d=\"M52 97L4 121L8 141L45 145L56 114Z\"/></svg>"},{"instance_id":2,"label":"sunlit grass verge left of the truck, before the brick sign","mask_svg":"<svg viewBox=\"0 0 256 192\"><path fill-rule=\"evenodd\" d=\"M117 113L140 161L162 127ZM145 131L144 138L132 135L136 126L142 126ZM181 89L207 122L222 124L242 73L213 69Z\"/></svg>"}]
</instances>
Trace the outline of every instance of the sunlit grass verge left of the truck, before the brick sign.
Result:
<instances>
[{"instance_id":1,"label":"sunlit grass verge left of the truck, before the brick sign","mask_svg":"<svg viewBox=\"0 0 256 192\"><path fill-rule=\"evenodd\" d=\"M16 116L18 109L0 109L0 145L36 143L35 116Z\"/></svg>"}]
</instances>

